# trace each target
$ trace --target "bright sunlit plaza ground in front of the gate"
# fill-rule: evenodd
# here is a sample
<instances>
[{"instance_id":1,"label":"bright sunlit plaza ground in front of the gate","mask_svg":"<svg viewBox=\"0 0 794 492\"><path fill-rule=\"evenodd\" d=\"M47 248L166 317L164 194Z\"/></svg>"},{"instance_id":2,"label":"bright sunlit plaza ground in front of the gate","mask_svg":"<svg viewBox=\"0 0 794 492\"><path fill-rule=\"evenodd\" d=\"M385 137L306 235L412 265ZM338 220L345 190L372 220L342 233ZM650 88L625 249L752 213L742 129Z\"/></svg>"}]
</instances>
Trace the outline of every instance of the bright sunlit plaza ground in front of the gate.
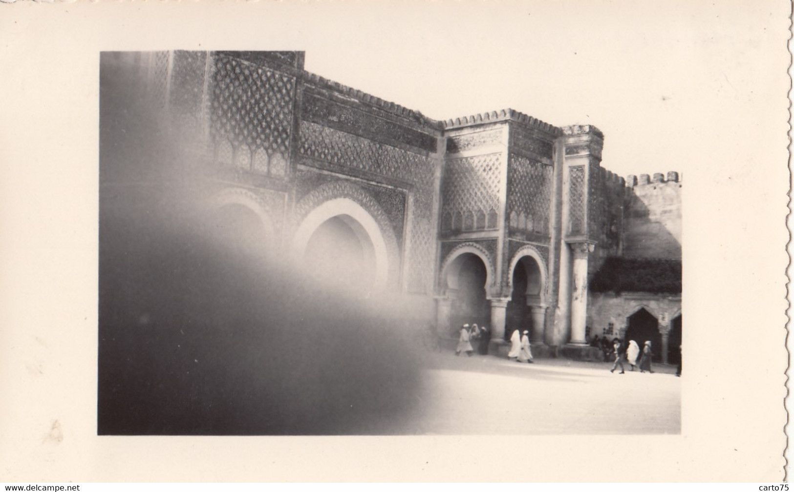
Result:
<instances>
[{"instance_id":1,"label":"bright sunlit plaza ground in front of the gate","mask_svg":"<svg viewBox=\"0 0 794 492\"><path fill-rule=\"evenodd\" d=\"M426 354L417 434L677 434L680 378L612 363ZM626 364L626 369L628 366Z\"/></svg>"}]
</instances>

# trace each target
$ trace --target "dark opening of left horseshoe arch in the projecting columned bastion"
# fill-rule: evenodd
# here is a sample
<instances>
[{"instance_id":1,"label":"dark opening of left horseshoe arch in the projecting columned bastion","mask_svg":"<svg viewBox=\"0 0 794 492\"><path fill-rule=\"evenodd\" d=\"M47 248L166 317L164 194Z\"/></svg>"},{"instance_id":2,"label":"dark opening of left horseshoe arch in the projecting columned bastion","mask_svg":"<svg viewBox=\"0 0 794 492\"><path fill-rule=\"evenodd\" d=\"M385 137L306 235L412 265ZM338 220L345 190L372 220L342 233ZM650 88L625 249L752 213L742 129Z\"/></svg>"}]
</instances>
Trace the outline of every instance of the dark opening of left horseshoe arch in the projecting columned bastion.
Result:
<instances>
[{"instance_id":1,"label":"dark opening of left horseshoe arch in the projecting columned bastion","mask_svg":"<svg viewBox=\"0 0 794 492\"><path fill-rule=\"evenodd\" d=\"M461 325L490 325L490 307L485 286L488 269L480 256L464 252L446 269L447 295L451 300L449 328L457 332Z\"/></svg>"}]
</instances>

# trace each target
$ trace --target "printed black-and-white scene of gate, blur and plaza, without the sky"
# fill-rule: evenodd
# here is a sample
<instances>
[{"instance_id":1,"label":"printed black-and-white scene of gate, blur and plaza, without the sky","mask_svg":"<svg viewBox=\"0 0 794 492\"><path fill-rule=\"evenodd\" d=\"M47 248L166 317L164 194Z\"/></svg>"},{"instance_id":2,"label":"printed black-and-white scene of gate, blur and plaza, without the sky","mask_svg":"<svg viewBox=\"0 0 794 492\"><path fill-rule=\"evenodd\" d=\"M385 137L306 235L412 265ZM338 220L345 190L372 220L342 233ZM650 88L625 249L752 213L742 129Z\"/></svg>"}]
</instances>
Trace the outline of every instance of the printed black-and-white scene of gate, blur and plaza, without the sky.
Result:
<instances>
[{"instance_id":1,"label":"printed black-and-white scene of gate, blur and plaza, without the sky","mask_svg":"<svg viewBox=\"0 0 794 492\"><path fill-rule=\"evenodd\" d=\"M102 53L98 432L680 433L683 176L309 56Z\"/></svg>"}]
</instances>

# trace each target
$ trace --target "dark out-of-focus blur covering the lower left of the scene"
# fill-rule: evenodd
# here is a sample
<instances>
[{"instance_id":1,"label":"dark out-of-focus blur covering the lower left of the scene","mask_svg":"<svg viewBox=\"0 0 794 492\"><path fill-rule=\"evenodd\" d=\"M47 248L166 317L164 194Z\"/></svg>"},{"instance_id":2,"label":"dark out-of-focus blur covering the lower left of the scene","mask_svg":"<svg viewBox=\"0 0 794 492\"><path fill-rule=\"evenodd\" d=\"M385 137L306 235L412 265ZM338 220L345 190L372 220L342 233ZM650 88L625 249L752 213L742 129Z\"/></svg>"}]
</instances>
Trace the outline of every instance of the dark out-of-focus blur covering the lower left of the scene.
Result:
<instances>
[{"instance_id":1,"label":"dark out-of-focus blur covering the lower left of the scene","mask_svg":"<svg viewBox=\"0 0 794 492\"><path fill-rule=\"evenodd\" d=\"M210 209L202 137L134 60L101 59L98 433L411 433L420 364L393 306L310 282Z\"/></svg>"}]
</instances>

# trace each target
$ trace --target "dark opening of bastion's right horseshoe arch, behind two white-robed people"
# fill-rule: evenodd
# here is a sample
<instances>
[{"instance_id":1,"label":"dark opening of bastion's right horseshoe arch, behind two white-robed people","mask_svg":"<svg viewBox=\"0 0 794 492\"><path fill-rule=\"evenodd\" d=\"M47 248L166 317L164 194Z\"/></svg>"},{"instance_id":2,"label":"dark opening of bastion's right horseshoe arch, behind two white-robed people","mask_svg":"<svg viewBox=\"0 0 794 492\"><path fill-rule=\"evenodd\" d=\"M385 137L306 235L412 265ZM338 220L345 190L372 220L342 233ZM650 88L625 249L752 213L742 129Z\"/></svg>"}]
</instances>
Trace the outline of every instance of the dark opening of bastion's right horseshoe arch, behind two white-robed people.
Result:
<instances>
[{"instance_id":1,"label":"dark opening of bastion's right horseshoe arch, behind two white-robed people","mask_svg":"<svg viewBox=\"0 0 794 492\"><path fill-rule=\"evenodd\" d=\"M532 256L522 256L515 263L512 272L513 290L507 303L504 335L509 338L514 329L537 332L542 327L534 327L532 307L542 306L543 288L541 268Z\"/></svg>"}]
</instances>

